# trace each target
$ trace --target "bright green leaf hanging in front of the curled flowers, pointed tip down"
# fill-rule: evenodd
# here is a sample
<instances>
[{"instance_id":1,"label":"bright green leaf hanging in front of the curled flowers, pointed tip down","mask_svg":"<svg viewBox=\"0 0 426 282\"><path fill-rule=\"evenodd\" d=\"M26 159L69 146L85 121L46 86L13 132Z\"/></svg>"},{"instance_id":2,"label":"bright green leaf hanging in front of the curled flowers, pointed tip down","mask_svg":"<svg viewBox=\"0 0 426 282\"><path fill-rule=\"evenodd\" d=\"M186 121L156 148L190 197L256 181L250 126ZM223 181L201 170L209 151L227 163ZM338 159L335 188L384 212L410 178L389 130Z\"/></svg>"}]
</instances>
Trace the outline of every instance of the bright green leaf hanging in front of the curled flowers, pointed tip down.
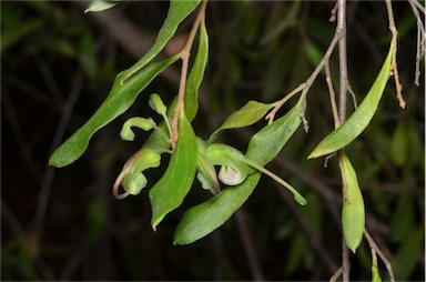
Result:
<instances>
[{"instance_id":1,"label":"bright green leaf hanging in front of the curled flowers, pointed tip down","mask_svg":"<svg viewBox=\"0 0 426 282\"><path fill-rule=\"evenodd\" d=\"M184 113L180 115L179 123L179 139L169 168L150 191L151 224L154 230L169 212L182 204L195 177L195 134Z\"/></svg>"}]
</instances>

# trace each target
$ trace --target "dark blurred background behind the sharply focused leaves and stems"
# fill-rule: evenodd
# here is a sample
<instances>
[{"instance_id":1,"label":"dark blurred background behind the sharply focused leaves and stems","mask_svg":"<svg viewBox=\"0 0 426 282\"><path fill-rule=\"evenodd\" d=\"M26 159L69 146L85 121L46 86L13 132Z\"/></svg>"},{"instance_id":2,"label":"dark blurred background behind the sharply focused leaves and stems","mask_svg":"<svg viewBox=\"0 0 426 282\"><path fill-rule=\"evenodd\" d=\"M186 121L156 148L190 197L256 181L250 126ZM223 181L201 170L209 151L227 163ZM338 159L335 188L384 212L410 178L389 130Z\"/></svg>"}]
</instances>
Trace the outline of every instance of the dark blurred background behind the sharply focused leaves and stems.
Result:
<instances>
[{"instance_id":1,"label":"dark blurred background behind the sharply focused leaves and stems","mask_svg":"<svg viewBox=\"0 0 426 282\"><path fill-rule=\"evenodd\" d=\"M342 263L339 172L335 159L326 169L323 160L306 160L333 130L323 74L308 94L310 132L300 129L267 165L307 197L305 208L262 178L221 229L174 246L182 212L209 198L197 183L156 232L150 226L148 191L164 171L164 160L149 172L151 184L141 194L122 201L112 197L122 165L148 138L138 132L138 141L122 141L122 123L133 115L160 120L148 108L148 97L156 92L170 103L180 63L99 131L77 162L48 167L51 152L105 99L115 74L152 46L169 7L165 1L124 2L84 14L87 6L1 2L1 279L328 280ZM248 100L272 102L304 82L317 63L308 50L324 53L333 37L333 7L331 1L210 2L210 59L194 121L197 135L207 138ZM393 262L397 280L424 280L424 68L417 88L416 20L408 2L395 2L394 11L407 107L398 108L390 79L373 122L346 152L363 189L367 229ZM387 53L390 32L384 1L349 1L347 16L349 81L361 102ZM193 19L181 24L163 58L180 50ZM336 59L335 51L335 90ZM227 131L220 141L244 151L263 125ZM353 280L371 280L365 240L351 261ZM379 270L386 278L382 261Z\"/></svg>"}]
</instances>

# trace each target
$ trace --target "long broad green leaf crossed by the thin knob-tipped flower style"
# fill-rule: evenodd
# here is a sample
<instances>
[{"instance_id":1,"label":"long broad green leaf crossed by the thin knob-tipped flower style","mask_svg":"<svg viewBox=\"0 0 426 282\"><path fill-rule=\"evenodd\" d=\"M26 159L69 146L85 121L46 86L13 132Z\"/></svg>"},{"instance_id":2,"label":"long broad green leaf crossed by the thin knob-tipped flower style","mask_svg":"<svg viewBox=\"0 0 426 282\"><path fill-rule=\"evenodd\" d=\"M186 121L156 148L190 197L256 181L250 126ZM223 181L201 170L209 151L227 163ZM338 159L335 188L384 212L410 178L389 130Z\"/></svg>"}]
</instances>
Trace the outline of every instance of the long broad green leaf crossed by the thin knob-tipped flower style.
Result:
<instances>
[{"instance_id":1,"label":"long broad green leaf crossed by the thin knob-tipped flower style","mask_svg":"<svg viewBox=\"0 0 426 282\"><path fill-rule=\"evenodd\" d=\"M247 159L265 165L280 153L301 124L300 114L304 105L302 99L287 114L266 125L252 138L245 154ZM209 201L189 209L178 224L174 244L190 244L224 224L248 199L260 178L261 173L255 172L243 183L224 189Z\"/></svg>"}]
</instances>

